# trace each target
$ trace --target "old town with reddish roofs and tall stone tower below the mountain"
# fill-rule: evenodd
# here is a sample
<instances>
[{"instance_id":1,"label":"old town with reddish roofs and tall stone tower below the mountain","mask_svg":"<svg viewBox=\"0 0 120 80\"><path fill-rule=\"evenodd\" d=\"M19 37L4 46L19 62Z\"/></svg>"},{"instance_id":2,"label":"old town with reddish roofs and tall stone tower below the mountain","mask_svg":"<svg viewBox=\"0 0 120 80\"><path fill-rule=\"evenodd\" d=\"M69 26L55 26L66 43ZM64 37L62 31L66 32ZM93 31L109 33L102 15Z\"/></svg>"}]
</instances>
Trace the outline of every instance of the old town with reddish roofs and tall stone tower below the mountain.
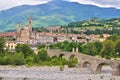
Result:
<instances>
[{"instance_id":1,"label":"old town with reddish roofs and tall stone tower below the mountain","mask_svg":"<svg viewBox=\"0 0 120 80\"><path fill-rule=\"evenodd\" d=\"M64 41L74 41L76 43L87 43L91 41L104 41L109 34L87 35L87 34L71 34L61 33L64 28L60 26L47 27L47 32L37 32L32 30L32 17L28 17L28 24L22 29L21 24L17 24L17 31L0 33L0 37L6 39L6 46L9 50L14 50L17 44L27 43L31 47L39 44L52 44ZM57 31L57 32L56 32Z\"/></svg>"}]
</instances>

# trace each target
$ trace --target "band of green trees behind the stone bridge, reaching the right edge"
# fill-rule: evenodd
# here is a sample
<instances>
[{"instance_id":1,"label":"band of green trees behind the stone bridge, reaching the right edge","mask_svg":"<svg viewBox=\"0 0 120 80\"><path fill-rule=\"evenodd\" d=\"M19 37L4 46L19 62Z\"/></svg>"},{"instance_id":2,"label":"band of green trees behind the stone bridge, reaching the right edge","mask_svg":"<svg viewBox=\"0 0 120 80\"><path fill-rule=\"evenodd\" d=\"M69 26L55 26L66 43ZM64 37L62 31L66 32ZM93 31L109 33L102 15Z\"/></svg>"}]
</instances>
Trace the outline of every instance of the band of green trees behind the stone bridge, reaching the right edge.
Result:
<instances>
[{"instance_id":1,"label":"band of green trees behind the stone bridge, reaching the right edge","mask_svg":"<svg viewBox=\"0 0 120 80\"><path fill-rule=\"evenodd\" d=\"M88 42L85 44L76 42L58 42L49 46L52 49L62 49L63 51L72 51L72 48L78 48L78 51L91 56L111 59L120 58L120 36L112 35L105 41Z\"/></svg>"}]
</instances>

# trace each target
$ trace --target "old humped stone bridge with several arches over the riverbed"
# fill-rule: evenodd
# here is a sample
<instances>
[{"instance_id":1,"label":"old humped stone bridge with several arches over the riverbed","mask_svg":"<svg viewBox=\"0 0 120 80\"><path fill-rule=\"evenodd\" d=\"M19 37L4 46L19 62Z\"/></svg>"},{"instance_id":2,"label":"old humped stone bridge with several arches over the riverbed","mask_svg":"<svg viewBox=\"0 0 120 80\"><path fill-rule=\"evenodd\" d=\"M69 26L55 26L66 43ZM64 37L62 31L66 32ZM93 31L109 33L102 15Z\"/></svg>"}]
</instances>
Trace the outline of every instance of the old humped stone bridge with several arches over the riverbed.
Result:
<instances>
[{"instance_id":1,"label":"old humped stone bridge with several arches over the riverbed","mask_svg":"<svg viewBox=\"0 0 120 80\"><path fill-rule=\"evenodd\" d=\"M94 74L100 73L103 65L109 65L113 69L112 75L120 76L120 61L96 58L96 57L81 54L78 52L62 52L60 50L52 50L52 49L48 50L48 55L50 57L65 56L66 59L71 59L72 57L75 56L78 59L79 67L86 67L89 64L91 65L92 71Z\"/></svg>"}]
</instances>

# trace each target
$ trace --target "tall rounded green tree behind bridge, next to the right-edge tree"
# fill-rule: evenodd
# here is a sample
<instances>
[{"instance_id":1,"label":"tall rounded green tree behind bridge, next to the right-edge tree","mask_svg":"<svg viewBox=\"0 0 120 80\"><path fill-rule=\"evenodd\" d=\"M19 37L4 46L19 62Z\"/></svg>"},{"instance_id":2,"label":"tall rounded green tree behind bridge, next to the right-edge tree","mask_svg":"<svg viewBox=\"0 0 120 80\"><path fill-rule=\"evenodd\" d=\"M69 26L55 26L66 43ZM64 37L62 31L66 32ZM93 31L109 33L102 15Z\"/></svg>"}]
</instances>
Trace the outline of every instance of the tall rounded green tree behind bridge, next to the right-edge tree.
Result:
<instances>
[{"instance_id":1,"label":"tall rounded green tree behind bridge, next to the right-edge tree","mask_svg":"<svg viewBox=\"0 0 120 80\"><path fill-rule=\"evenodd\" d=\"M106 40L103 42L103 48L101 50L101 57L110 59L114 55L114 43L112 40Z\"/></svg>"}]
</instances>

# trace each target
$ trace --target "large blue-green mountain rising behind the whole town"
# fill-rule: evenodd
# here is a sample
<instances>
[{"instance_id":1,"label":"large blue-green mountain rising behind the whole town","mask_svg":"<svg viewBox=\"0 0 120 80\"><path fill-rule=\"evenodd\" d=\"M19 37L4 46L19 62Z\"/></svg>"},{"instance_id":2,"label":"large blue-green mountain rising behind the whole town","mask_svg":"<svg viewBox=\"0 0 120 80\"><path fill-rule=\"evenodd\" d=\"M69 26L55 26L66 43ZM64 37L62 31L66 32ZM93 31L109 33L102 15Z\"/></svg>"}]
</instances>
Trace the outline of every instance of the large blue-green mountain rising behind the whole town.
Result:
<instances>
[{"instance_id":1,"label":"large blue-green mountain rising behind the whole town","mask_svg":"<svg viewBox=\"0 0 120 80\"><path fill-rule=\"evenodd\" d=\"M17 23L22 23L25 26L29 15L33 17L33 27L42 27L66 25L92 17L119 18L120 9L101 8L62 0L41 5L23 5L0 11L1 31L14 30Z\"/></svg>"}]
</instances>

